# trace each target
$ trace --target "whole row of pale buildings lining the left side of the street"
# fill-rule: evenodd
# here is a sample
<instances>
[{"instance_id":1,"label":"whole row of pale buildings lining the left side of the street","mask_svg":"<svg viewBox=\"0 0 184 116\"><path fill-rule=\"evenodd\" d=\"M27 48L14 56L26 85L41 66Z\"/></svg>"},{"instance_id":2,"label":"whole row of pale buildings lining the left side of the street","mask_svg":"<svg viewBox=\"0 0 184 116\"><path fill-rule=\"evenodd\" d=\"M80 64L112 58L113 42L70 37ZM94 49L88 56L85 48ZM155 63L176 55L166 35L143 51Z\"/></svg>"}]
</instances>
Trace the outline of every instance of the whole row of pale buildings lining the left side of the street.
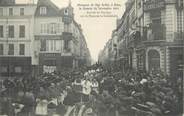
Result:
<instances>
[{"instance_id":1,"label":"whole row of pale buildings lining the left side of the street","mask_svg":"<svg viewBox=\"0 0 184 116\"><path fill-rule=\"evenodd\" d=\"M90 65L90 52L71 3L62 9L50 0L0 3L0 77Z\"/></svg>"}]
</instances>

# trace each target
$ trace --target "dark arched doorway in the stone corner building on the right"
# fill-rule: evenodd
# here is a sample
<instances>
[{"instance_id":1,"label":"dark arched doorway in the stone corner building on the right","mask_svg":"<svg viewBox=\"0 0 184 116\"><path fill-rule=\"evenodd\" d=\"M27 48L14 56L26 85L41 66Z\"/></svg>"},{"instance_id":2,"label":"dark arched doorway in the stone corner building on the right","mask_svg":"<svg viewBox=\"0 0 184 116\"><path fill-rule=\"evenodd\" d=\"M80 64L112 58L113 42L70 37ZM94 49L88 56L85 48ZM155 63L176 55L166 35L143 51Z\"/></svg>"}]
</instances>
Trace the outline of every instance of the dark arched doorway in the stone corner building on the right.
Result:
<instances>
[{"instance_id":1,"label":"dark arched doorway in the stone corner building on the right","mask_svg":"<svg viewBox=\"0 0 184 116\"><path fill-rule=\"evenodd\" d=\"M148 68L149 71L160 70L160 53L157 50L148 52Z\"/></svg>"}]
</instances>

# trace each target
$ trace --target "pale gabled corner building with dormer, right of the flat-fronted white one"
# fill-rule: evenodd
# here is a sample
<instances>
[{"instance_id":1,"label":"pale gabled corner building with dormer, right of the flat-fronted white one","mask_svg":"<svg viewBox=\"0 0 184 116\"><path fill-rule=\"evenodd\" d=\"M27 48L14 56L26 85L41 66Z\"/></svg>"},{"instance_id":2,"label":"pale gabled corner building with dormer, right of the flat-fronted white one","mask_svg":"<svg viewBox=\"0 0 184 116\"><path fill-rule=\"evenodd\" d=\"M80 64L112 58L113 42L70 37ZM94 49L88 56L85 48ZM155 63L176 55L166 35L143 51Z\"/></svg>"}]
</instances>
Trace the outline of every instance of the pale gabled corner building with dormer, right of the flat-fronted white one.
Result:
<instances>
[{"instance_id":1,"label":"pale gabled corner building with dormer, right of the flat-fronted white one","mask_svg":"<svg viewBox=\"0 0 184 116\"><path fill-rule=\"evenodd\" d=\"M40 72L79 67L80 52L87 49L87 44L71 3L59 9L50 0L39 0L34 27Z\"/></svg>"}]
</instances>

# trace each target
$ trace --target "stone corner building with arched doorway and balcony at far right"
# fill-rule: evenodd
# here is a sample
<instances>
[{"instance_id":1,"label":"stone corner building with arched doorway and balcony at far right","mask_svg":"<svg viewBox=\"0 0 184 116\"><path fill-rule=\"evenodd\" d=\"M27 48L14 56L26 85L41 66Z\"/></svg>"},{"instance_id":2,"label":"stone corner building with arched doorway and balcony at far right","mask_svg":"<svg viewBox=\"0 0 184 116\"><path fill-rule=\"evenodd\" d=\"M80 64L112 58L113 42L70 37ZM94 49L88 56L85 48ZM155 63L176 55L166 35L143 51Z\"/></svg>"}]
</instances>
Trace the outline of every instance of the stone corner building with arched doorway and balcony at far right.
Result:
<instances>
[{"instance_id":1,"label":"stone corner building with arched doorway and balcony at far right","mask_svg":"<svg viewBox=\"0 0 184 116\"><path fill-rule=\"evenodd\" d=\"M176 77L183 75L184 65L184 1L145 1L144 43L146 70L160 69ZM150 7L154 6L154 7Z\"/></svg>"}]
</instances>

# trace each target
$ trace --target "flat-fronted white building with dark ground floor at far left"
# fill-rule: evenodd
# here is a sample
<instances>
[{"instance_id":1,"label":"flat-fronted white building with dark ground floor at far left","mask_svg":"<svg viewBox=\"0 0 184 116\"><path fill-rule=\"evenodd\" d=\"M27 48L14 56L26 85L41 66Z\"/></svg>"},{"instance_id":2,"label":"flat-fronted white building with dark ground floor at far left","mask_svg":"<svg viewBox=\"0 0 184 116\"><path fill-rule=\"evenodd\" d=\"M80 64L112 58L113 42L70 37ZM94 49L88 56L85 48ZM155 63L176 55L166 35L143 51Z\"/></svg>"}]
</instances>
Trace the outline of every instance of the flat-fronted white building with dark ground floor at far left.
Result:
<instances>
[{"instance_id":1,"label":"flat-fronted white building with dark ground floor at far left","mask_svg":"<svg viewBox=\"0 0 184 116\"><path fill-rule=\"evenodd\" d=\"M36 63L31 50L36 5L14 2L2 0L0 4L1 77L27 74Z\"/></svg>"}]
</instances>

